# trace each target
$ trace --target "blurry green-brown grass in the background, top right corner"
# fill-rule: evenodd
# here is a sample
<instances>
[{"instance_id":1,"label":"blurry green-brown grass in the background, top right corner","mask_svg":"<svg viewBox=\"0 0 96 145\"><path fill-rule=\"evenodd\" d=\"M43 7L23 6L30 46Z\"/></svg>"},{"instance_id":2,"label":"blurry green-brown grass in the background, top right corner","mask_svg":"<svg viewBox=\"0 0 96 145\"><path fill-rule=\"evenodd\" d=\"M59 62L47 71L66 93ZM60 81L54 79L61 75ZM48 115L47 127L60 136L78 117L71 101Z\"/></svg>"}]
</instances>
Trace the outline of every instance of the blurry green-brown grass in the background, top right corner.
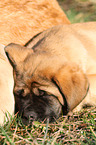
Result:
<instances>
[{"instance_id":1,"label":"blurry green-brown grass in the background, top right corner","mask_svg":"<svg viewBox=\"0 0 96 145\"><path fill-rule=\"evenodd\" d=\"M71 23L96 21L95 0L58 0Z\"/></svg>"}]
</instances>

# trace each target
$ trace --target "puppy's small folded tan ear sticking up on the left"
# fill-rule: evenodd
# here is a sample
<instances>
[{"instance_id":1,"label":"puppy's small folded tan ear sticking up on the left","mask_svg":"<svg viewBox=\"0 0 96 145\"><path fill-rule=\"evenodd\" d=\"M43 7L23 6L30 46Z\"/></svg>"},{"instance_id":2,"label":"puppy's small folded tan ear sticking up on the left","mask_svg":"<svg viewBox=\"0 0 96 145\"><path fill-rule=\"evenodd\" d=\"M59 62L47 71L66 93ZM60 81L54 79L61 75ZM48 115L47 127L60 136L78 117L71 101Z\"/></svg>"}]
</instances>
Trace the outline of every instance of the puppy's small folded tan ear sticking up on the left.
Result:
<instances>
[{"instance_id":1,"label":"puppy's small folded tan ear sticking up on the left","mask_svg":"<svg viewBox=\"0 0 96 145\"><path fill-rule=\"evenodd\" d=\"M19 44L10 43L5 47L6 55L10 61L10 63L14 66L18 65L20 62L23 62L24 59L31 53L33 50L30 48L26 48Z\"/></svg>"}]
</instances>

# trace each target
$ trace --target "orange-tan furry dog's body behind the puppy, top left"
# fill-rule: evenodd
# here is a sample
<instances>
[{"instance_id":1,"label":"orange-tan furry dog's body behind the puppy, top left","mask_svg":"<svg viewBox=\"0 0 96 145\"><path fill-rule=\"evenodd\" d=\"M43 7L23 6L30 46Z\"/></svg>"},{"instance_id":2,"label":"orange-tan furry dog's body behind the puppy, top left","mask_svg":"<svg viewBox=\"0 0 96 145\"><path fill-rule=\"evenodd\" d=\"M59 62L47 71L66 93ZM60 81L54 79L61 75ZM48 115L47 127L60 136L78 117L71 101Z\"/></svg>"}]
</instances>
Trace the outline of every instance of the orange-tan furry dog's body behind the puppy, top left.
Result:
<instances>
[{"instance_id":1,"label":"orange-tan furry dog's body behind the puppy, top left","mask_svg":"<svg viewBox=\"0 0 96 145\"><path fill-rule=\"evenodd\" d=\"M70 23L56 0L0 0L0 43L24 45L37 33Z\"/></svg>"}]
</instances>

